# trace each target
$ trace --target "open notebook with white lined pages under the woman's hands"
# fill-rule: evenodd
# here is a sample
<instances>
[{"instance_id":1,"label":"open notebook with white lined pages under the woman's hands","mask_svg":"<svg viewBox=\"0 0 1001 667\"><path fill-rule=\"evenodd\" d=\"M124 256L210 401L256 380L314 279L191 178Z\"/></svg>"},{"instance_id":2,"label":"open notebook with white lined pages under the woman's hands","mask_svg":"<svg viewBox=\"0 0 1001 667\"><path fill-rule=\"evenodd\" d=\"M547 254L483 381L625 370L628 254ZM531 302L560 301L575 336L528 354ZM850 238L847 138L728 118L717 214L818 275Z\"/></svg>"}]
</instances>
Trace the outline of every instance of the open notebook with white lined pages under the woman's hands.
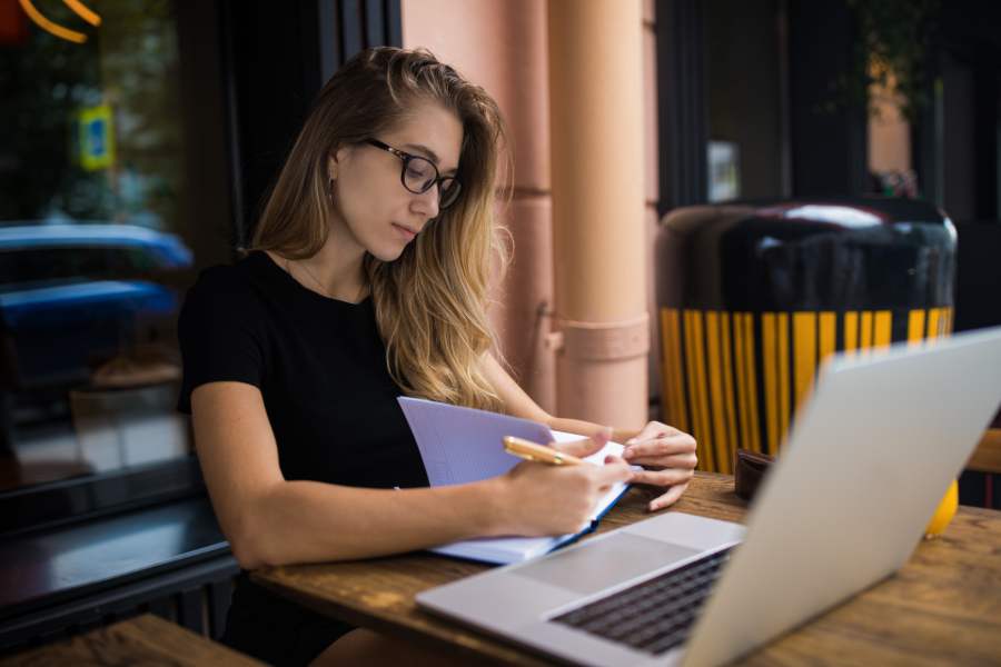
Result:
<instances>
[{"instance_id":1,"label":"open notebook with white lined pages under the woman's hands","mask_svg":"<svg viewBox=\"0 0 1001 667\"><path fill-rule=\"evenodd\" d=\"M522 461L504 451L502 438L516 436L534 442L579 440L583 436L551 431L537 421L463 408L420 398L399 397L400 408L420 451L430 486L467 484L507 472ZM585 460L603 465L608 455L621 456L623 446L607 442ZM551 537L500 537L469 539L432 549L436 554L484 563L522 563L567 545L594 530L597 522L625 494L620 482L598 501L591 520L577 532Z\"/></svg>"}]
</instances>

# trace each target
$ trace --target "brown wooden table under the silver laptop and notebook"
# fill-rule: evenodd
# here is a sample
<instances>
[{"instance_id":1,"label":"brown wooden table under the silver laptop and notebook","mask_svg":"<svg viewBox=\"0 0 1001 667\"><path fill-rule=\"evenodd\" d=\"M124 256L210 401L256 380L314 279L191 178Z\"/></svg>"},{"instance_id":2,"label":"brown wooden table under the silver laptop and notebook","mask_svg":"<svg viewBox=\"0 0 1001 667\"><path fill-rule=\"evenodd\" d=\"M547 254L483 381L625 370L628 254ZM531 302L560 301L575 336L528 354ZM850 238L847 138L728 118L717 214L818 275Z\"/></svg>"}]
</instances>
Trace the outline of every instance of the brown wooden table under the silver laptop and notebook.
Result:
<instances>
[{"instance_id":1,"label":"brown wooden table under the silver laptop and notebook","mask_svg":"<svg viewBox=\"0 0 1001 667\"><path fill-rule=\"evenodd\" d=\"M598 531L650 516L644 509L650 497L645 489L631 490L605 517ZM675 509L740 521L746 505L733 495L731 477L700 472ZM356 563L275 567L257 571L252 578L321 614L425 645L446 645L478 664L547 664L544 658L415 606L417 593L484 569L486 566L475 563L408 554ZM919 545L895 577L739 664L807 661L1001 665L1001 511L961 507L945 532Z\"/></svg>"}]
</instances>

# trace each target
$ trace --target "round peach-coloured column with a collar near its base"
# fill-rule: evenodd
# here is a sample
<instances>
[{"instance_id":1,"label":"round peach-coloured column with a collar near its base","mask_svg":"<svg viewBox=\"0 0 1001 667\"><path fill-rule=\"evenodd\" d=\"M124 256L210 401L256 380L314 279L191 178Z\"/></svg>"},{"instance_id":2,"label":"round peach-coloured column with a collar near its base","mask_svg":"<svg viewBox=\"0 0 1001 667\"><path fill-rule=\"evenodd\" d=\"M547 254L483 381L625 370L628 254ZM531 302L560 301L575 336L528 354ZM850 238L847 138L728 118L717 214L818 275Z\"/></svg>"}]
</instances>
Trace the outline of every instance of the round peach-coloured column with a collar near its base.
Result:
<instances>
[{"instance_id":1,"label":"round peach-coloured column with a collar near its base","mask_svg":"<svg viewBox=\"0 0 1001 667\"><path fill-rule=\"evenodd\" d=\"M557 407L638 427L647 411L640 0L549 1Z\"/></svg>"}]
</instances>

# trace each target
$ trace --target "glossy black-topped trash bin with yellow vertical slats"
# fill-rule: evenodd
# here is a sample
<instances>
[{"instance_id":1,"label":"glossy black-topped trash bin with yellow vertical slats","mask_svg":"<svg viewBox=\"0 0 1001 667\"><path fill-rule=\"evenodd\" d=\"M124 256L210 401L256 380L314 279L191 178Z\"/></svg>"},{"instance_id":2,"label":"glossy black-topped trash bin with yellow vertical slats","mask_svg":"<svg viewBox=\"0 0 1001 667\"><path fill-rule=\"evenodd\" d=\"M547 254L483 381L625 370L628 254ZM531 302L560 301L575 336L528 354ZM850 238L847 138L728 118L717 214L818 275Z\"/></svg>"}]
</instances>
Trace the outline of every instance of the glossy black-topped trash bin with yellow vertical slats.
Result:
<instances>
[{"instance_id":1,"label":"glossy black-topped trash bin with yellow vertical slats","mask_svg":"<svg viewBox=\"0 0 1001 667\"><path fill-rule=\"evenodd\" d=\"M957 235L920 200L815 199L680 208L656 239L665 420L700 469L776 454L835 350L879 354L952 330Z\"/></svg>"}]
</instances>

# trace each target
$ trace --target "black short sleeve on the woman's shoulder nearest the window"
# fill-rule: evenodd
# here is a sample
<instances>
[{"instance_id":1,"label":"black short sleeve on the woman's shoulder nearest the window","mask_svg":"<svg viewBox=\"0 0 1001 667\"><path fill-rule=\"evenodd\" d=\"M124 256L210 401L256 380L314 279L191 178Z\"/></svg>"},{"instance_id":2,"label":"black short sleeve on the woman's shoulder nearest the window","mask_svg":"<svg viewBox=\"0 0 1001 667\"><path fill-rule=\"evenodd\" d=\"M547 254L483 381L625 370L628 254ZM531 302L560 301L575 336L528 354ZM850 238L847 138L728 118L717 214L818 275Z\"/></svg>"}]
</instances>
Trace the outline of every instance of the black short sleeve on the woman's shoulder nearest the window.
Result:
<instances>
[{"instance_id":1,"label":"black short sleeve on the woman's shoulder nearest the window","mask_svg":"<svg viewBox=\"0 0 1001 667\"><path fill-rule=\"evenodd\" d=\"M202 271L188 290L177 320L184 371L179 411L191 412L191 392L206 382L261 386L262 313L251 286L232 267Z\"/></svg>"}]
</instances>

